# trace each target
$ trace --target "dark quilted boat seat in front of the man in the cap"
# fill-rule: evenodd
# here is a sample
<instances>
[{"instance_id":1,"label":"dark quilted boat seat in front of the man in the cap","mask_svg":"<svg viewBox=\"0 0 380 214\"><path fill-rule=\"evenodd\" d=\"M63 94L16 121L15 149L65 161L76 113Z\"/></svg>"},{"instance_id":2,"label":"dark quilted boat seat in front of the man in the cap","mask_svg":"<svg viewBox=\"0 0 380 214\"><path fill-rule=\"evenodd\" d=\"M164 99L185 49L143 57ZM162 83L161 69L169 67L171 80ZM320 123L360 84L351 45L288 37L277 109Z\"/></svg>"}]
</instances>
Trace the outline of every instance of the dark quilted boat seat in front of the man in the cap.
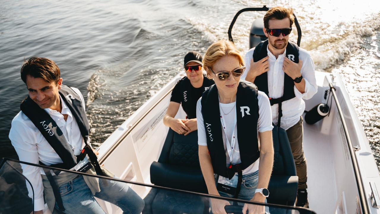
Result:
<instances>
[{"instance_id":1,"label":"dark quilted boat seat in front of the man in the cap","mask_svg":"<svg viewBox=\"0 0 380 214\"><path fill-rule=\"evenodd\" d=\"M207 193L199 165L197 131L184 136L169 128L158 161L150 165L150 182L162 187ZM144 201L142 214L204 213L209 206L209 202L200 196L153 188Z\"/></svg>"}]
</instances>

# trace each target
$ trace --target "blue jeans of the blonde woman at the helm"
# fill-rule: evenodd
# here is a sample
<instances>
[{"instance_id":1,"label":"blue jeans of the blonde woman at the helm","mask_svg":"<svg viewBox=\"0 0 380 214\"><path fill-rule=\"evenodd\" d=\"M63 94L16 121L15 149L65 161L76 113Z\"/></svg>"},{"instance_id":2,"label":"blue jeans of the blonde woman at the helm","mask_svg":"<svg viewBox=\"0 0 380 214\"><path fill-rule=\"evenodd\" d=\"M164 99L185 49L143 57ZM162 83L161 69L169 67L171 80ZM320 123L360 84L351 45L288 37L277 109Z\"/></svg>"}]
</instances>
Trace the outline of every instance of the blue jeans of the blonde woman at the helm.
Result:
<instances>
[{"instance_id":1,"label":"blue jeans of the blonde woman at the helm","mask_svg":"<svg viewBox=\"0 0 380 214\"><path fill-rule=\"evenodd\" d=\"M237 199L250 201L255 195L255 190L259 181L259 171L257 170L256 172L243 175L242 180L243 181L241 182L240 192L239 192L239 195L237 195ZM218 185L217 178L215 179L215 185ZM221 192L221 191L218 191L218 192L220 196L233 198L233 195L231 194ZM266 203L266 199L265 199L265 203ZM230 204L232 204L231 201L230 201ZM237 204L241 206L244 205L244 203L241 203L241 202L237 202ZM269 209L267 206L265 207L265 211L269 213Z\"/></svg>"}]
</instances>

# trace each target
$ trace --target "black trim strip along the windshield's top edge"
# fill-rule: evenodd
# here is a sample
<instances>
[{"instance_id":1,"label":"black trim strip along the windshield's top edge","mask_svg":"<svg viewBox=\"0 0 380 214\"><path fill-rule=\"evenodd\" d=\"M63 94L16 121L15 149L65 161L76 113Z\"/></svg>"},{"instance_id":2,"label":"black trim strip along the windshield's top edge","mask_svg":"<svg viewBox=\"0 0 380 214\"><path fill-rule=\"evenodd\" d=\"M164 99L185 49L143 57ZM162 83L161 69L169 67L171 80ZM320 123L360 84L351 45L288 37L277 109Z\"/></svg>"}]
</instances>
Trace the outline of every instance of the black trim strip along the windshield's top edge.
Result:
<instances>
[{"instance_id":1,"label":"black trim strip along the windshield's top edge","mask_svg":"<svg viewBox=\"0 0 380 214\"><path fill-rule=\"evenodd\" d=\"M123 182L123 183L127 183L127 184L135 184L135 185L139 185L139 186L157 188L157 189L162 189L162 190L169 190L169 191L180 192L180 193L185 193L185 194L198 195L198 196L203 196L203 197L207 197L207 198L217 198L217 199L236 201L236 202L242 202L242 203L249 203L249 204L257 204L257 205L263 205L263 206L270 205L271 207L275 207L275 208L298 210L302 214L316 214L314 211L312 211L311 209L307 209L307 208L291 207L291 206L285 206L285 205L279 205L279 204L264 204L264 203L259 203L259 202L255 202L255 201L246 201L246 200L235 199L235 198L226 198L226 197L222 197L222 196L208 195L208 194L204 194L204 193L190 192L190 191L185 191L185 190L178 190L178 189L173 189L173 188L168 188L168 187L161 187L161 186L157 186L157 185L143 184L143 183L129 181L129 180L122 180L122 179L116 179L116 178L111 178L111 177L106 177L106 176L92 175L92 174L87 174L84 172L70 171L67 169L59 169L59 168L55 168L55 167L51 167L51 166L42 166L39 164L27 163L24 161L14 160L11 158L3 158L3 161L4 160L5 161L13 161L16 163L27 164L30 166L37 166L37 167L41 167L41 168L45 168L45 169L54 169L54 170L59 170L59 171L63 171L63 172L69 172L72 174L78 174L78 175L82 175L82 176L97 177L97 178L101 178L101 179L114 180L117 182Z\"/></svg>"}]
</instances>

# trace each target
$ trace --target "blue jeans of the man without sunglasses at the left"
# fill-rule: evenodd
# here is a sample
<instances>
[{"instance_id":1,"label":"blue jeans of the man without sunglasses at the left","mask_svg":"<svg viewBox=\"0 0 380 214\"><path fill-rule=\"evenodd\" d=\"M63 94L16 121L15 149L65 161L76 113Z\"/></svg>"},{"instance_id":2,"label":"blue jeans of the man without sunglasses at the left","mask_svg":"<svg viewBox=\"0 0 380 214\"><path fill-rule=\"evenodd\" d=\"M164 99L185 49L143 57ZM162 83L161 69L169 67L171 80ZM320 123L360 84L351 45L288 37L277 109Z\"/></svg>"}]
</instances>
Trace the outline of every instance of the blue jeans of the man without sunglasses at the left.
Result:
<instances>
[{"instance_id":1,"label":"blue jeans of the man without sunglasses at the left","mask_svg":"<svg viewBox=\"0 0 380 214\"><path fill-rule=\"evenodd\" d=\"M95 197L115 204L123 210L123 214L140 214L144 201L128 184L113 180L99 179L100 192ZM66 214L105 214L91 193L83 176L59 187ZM55 208L58 209L57 203Z\"/></svg>"}]
</instances>

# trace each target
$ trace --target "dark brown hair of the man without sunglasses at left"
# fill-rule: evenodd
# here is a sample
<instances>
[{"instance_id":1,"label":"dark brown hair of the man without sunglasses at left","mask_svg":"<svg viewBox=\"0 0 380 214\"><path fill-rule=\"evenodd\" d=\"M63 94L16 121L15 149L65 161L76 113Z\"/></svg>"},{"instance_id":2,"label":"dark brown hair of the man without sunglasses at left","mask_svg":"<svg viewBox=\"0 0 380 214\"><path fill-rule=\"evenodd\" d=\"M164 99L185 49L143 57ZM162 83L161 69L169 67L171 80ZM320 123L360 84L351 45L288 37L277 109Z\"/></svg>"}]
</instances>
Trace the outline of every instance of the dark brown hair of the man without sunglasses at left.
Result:
<instances>
[{"instance_id":1,"label":"dark brown hair of the man without sunglasses at left","mask_svg":"<svg viewBox=\"0 0 380 214\"><path fill-rule=\"evenodd\" d=\"M58 83L61 76L59 67L50 59L32 57L24 62L21 67L21 79L26 84L26 77L43 78L47 82Z\"/></svg>"}]
</instances>

